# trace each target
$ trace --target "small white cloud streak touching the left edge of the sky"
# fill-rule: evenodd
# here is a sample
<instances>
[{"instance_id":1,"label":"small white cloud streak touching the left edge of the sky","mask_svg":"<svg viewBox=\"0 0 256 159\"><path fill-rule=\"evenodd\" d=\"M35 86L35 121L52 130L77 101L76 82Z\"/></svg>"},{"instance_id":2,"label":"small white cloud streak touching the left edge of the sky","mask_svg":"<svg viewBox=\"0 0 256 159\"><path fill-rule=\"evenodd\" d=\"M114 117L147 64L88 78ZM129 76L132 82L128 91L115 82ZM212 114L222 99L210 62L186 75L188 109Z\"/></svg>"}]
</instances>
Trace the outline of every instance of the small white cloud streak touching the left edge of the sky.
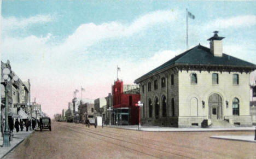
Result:
<instances>
[{"instance_id":1,"label":"small white cloud streak touching the left edge of the sky","mask_svg":"<svg viewBox=\"0 0 256 159\"><path fill-rule=\"evenodd\" d=\"M11 31L16 29L24 29L25 27L36 23L46 23L52 21L51 15L35 15L28 18L18 18L14 16L2 17L2 30Z\"/></svg>"}]
</instances>

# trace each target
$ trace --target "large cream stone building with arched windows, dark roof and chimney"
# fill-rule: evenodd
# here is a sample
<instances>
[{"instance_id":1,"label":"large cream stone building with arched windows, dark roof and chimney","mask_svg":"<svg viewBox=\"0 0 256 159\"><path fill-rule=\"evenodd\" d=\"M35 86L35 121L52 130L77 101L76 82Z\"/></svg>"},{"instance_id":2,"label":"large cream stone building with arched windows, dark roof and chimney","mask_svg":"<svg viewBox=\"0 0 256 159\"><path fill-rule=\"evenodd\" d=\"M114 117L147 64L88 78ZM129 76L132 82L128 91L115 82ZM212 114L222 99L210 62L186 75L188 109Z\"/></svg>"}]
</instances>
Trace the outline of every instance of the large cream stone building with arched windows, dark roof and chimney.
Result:
<instances>
[{"instance_id":1,"label":"large cream stone building with arched windows, dark roof and chimney","mask_svg":"<svg viewBox=\"0 0 256 159\"><path fill-rule=\"evenodd\" d=\"M223 54L214 32L210 48L197 45L135 80L140 85L142 123L158 126L251 126L252 63Z\"/></svg>"}]
</instances>

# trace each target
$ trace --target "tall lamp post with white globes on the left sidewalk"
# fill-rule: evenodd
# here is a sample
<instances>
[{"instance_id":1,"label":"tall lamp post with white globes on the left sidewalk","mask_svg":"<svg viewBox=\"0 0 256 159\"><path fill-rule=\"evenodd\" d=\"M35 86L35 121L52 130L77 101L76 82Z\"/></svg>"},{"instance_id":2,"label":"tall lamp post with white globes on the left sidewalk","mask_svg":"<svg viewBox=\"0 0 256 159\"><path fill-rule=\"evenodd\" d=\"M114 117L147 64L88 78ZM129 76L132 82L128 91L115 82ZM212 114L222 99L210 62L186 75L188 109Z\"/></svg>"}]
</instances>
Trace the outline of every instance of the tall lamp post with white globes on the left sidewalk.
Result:
<instances>
[{"instance_id":1,"label":"tall lamp post with white globes on the left sidewalk","mask_svg":"<svg viewBox=\"0 0 256 159\"><path fill-rule=\"evenodd\" d=\"M3 146L8 147L10 146L10 140L9 140L9 135L10 135L10 130L9 130L9 125L8 125L8 92L9 92L9 83L11 83L11 80L13 79L14 81L18 80L18 76L14 76L12 79L10 78L10 69L9 68L4 68L3 69L3 79L4 79L4 93L5 93L5 129L4 129L4 142Z\"/></svg>"}]
</instances>

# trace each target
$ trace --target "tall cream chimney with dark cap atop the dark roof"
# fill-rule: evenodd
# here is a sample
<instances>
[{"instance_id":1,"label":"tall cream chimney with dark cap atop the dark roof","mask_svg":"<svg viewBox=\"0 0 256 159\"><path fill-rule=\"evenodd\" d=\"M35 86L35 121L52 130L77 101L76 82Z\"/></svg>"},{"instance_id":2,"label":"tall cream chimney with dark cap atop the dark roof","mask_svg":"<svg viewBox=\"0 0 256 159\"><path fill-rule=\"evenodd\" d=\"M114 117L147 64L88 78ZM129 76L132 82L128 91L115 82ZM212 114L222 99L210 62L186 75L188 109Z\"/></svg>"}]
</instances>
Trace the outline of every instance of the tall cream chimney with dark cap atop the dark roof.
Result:
<instances>
[{"instance_id":1,"label":"tall cream chimney with dark cap atop the dark roof","mask_svg":"<svg viewBox=\"0 0 256 159\"><path fill-rule=\"evenodd\" d=\"M222 39L225 37L219 37L218 31L214 31L214 36L208 39L210 41L210 50L214 56L222 57L223 45Z\"/></svg>"}]
</instances>

